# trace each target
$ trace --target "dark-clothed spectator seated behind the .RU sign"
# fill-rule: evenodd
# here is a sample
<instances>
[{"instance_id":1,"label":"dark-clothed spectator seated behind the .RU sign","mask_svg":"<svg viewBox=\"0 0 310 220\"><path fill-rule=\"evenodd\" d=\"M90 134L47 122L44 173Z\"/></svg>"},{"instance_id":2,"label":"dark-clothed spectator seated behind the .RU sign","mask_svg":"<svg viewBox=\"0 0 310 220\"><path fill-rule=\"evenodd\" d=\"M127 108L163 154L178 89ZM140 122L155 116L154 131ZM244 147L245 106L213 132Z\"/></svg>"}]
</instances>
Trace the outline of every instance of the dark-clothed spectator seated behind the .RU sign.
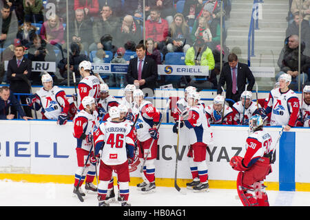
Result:
<instances>
[{"instance_id":1,"label":"dark-clothed spectator seated behind the .RU sign","mask_svg":"<svg viewBox=\"0 0 310 220\"><path fill-rule=\"evenodd\" d=\"M33 38L33 43L28 50L28 59L31 61L48 61L48 62L55 62L56 61L56 54L54 52L54 47L50 43L46 43L42 40L41 35L35 34ZM54 83L57 83L56 76L54 72L48 72L52 78ZM40 85L41 72L32 72L32 85Z\"/></svg>"}]
</instances>

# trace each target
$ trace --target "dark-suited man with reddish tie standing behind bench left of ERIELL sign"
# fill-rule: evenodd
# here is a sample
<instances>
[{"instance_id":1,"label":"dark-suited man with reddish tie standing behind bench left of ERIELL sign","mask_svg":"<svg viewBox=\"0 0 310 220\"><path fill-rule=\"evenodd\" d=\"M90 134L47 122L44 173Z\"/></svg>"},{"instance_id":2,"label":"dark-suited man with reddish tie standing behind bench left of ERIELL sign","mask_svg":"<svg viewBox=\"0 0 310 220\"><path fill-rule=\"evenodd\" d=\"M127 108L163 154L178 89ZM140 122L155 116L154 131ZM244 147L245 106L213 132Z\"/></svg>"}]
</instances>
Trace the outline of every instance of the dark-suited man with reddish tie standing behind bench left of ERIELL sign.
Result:
<instances>
[{"instance_id":1,"label":"dark-suited man with reddish tie standing behind bench left of ERIELL sign","mask_svg":"<svg viewBox=\"0 0 310 220\"><path fill-rule=\"evenodd\" d=\"M134 84L147 96L153 96L157 81L157 65L154 59L145 56L145 46L136 46L137 57L130 59L127 69L127 83ZM153 94L151 94L153 92Z\"/></svg>"}]
</instances>

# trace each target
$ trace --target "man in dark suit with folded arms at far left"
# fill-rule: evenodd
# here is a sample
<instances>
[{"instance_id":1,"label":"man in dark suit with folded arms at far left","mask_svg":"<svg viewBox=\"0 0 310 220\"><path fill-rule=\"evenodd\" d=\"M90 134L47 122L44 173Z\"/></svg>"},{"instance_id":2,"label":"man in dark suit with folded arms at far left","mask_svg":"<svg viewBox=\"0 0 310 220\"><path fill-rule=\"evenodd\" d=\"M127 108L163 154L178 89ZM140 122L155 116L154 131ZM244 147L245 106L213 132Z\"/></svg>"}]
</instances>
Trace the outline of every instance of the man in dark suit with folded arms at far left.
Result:
<instances>
[{"instance_id":1,"label":"man in dark suit with folded arms at far left","mask_svg":"<svg viewBox=\"0 0 310 220\"><path fill-rule=\"evenodd\" d=\"M25 48L16 46L14 48L14 58L8 62L8 81L10 81L10 90L14 93L30 93L30 77L32 70L32 62L30 59L23 57ZM27 104L26 97L21 96L21 103ZM32 112L28 106L23 106L26 116L32 117ZM16 114L17 110L12 108L12 114Z\"/></svg>"}]
</instances>

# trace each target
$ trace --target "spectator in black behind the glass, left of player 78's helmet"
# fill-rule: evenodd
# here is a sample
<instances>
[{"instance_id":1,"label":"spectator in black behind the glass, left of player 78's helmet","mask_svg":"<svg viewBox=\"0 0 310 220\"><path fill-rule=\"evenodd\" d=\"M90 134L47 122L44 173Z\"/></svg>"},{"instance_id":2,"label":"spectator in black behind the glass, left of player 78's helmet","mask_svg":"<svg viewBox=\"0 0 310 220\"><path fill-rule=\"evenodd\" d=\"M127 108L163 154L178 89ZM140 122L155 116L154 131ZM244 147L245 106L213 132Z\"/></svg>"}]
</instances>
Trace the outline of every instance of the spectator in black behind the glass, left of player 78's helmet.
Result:
<instances>
[{"instance_id":1,"label":"spectator in black behind the glass, left of player 78's helmet","mask_svg":"<svg viewBox=\"0 0 310 220\"><path fill-rule=\"evenodd\" d=\"M70 67L69 70L70 72L75 72L76 78L79 78L80 72L79 72L79 64L81 63L81 61L90 61L89 57L87 57L87 55L85 54L80 54L81 52L81 44L80 43L76 43L76 42L72 42L70 44L70 54L69 54L69 61L70 61ZM57 67L59 68L59 72L61 74L61 77L65 78L65 80L63 82L61 82L61 84L66 84L68 82L68 63L67 63L67 57L61 59L61 61L59 61L59 63L57 64ZM70 78L71 78L72 74L70 74Z\"/></svg>"}]
</instances>

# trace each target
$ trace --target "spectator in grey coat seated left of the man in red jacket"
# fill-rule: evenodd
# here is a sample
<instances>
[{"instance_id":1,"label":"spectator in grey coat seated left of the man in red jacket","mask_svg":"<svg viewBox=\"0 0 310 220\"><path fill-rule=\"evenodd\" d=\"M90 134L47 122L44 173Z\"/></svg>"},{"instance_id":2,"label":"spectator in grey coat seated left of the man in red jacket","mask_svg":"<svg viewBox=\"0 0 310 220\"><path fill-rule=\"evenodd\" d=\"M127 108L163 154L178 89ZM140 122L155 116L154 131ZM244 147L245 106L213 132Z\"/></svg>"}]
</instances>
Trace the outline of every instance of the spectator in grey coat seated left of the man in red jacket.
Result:
<instances>
[{"instance_id":1,"label":"spectator in grey coat seated left of the man in red jacket","mask_svg":"<svg viewBox=\"0 0 310 220\"><path fill-rule=\"evenodd\" d=\"M132 15L127 14L123 18L123 23L116 34L116 45L123 46L126 41L134 41L138 43L142 36L141 26L136 23Z\"/></svg>"}]
</instances>

